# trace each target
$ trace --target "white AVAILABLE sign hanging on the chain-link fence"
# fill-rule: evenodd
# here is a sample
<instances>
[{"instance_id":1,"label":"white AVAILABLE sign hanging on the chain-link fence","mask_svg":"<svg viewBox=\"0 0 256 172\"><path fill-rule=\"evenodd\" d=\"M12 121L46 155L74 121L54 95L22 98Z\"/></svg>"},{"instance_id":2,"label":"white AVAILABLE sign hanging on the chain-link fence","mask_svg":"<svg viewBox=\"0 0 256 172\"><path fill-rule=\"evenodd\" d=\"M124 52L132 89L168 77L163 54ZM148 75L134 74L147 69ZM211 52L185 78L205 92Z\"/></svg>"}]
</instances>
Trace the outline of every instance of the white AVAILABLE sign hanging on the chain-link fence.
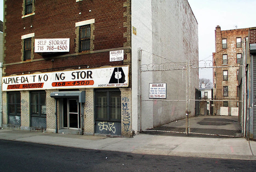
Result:
<instances>
[{"instance_id":1,"label":"white AVAILABLE sign hanging on the chain-link fence","mask_svg":"<svg viewBox=\"0 0 256 172\"><path fill-rule=\"evenodd\" d=\"M166 83L149 83L149 98L166 98Z\"/></svg>"}]
</instances>

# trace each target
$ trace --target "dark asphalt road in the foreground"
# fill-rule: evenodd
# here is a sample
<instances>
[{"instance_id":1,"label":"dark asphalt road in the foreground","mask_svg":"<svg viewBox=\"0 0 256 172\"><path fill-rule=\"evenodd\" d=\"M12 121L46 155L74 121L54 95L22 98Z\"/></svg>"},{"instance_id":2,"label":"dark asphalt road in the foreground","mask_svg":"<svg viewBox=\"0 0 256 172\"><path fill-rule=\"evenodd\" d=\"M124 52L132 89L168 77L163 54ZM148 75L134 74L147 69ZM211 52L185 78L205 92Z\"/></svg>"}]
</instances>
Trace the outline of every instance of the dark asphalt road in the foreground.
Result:
<instances>
[{"instance_id":1,"label":"dark asphalt road in the foreground","mask_svg":"<svg viewBox=\"0 0 256 172\"><path fill-rule=\"evenodd\" d=\"M0 140L0 172L253 172L256 161L129 154Z\"/></svg>"}]
</instances>

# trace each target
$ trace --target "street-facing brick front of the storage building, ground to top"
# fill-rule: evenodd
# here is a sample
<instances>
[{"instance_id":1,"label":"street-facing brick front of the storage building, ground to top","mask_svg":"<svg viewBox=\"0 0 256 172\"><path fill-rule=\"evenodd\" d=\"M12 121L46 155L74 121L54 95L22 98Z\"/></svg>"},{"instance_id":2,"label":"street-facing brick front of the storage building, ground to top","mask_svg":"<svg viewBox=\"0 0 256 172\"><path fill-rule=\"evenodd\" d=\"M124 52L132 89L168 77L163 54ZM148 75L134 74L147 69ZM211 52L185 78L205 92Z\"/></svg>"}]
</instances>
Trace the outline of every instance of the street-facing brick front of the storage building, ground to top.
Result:
<instances>
[{"instance_id":1,"label":"street-facing brick front of the storage building, ground to top","mask_svg":"<svg viewBox=\"0 0 256 172\"><path fill-rule=\"evenodd\" d=\"M60 87L60 89L58 87L56 89L26 88L14 89L14 91L7 89L7 92L3 92L3 124L9 128L27 130L40 130L41 128L49 132L69 132L69 129L77 129L75 130L77 133L95 133L94 126L97 123L98 133L109 134L103 132L109 127L108 131L113 131L112 134L129 136L131 125L122 125L121 127L121 120L124 117L120 114L124 114L124 112L121 109L120 101L131 97L131 2L129 0L55 0L49 2L23 0L13 4L6 0L4 4L3 76L19 76L20 78L26 76L29 78L38 73L50 76L56 71L62 71L63 76L67 77L64 71L74 70L77 72L76 74L85 71L83 74L88 74L91 72L90 69L100 71L99 68L104 66L107 67L105 68L107 70L112 70L111 67L128 66L130 71L127 71L126 75L128 74L128 76L125 76L126 83L129 84L128 87L127 85L114 88L93 86L93 88L85 89L77 87L78 83L76 83L73 88L69 87L69 89L65 89L65 87ZM84 26L87 27L86 33L81 31ZM81 50L82 34L86 34L86 37L88 36L86 39L90 41L87 41L90 46L84 50ZM54 41L54 39L62 38L69 38L69 51L34 52L36 51L36 47L34 47L36 39L43 41L53 39ZM26 55L27 39L30 39L29 55ZM40 46L43 46L43 42ZM40 46L38 50L41 49ZM48 49L51 46L43 48ZM110 61L110 51L117 50L123 50L123 60ZM80 75L81 77L83 76ZM99 80L101 77L107 77L107 75L102 74ZM89 78L93 80L94 76ZM63 81L67 82L68 80ZM17 83L13 82L12 84L17 85ZM26 83L26 81L22 83ZM101 94L103 90L103 94L106 94L104 98L98 97L99 108L96 119L94 115L95 90L99 91L97 94ZM80 91L85 94L86 101L78 102L80 94L78 96L66 94L66 96L56 98L50 95L53 91L69 91L71 93ZM129 110L125 109L125 112L131 113L131 102L125 103L128 103L125 107L129 108ZM75 104L75 109L65 107L69 104ZM110 104L115 104L114 110L111 109L112 107L109 108ZM55 106L58 111L55 111ZM64 109L68 113L63 116L61 114L63 110L60 109ZM109 111L108 116L101 117L99 114L101 110ZM82 117L80 114L86 115ZM110 117L110 114L117 117ZM57 120L55 120L56 117ZM127 121L131 121L130 116ZM118 126L115 126L116 123ZM62 128L66 130L61 130Z\"/></svg>"}]
</instances>

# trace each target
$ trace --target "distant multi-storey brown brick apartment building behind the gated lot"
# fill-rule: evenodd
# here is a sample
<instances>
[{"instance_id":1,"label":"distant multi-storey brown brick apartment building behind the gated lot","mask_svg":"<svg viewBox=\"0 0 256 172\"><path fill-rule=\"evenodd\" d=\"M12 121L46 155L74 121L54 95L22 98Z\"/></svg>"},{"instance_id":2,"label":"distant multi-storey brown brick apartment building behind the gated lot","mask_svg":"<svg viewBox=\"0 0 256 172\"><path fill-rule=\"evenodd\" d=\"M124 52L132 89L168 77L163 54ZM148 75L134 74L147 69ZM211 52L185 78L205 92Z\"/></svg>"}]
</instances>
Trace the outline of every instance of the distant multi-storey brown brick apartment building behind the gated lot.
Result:
<instances>
[{"instance_id":1,"label":"distant multi-storey brown brick apartment building behind the gated lot","mask_svg":"<svg viewBox=\"0 0 256 172\"><path fill-rule=\"evenodd\" d=\"M240 91L239 69L243 64L243 42L248 39L249 28L215 30L215 53L213 53L213 114L237 116Z\"/></svg>"}]
</instances>

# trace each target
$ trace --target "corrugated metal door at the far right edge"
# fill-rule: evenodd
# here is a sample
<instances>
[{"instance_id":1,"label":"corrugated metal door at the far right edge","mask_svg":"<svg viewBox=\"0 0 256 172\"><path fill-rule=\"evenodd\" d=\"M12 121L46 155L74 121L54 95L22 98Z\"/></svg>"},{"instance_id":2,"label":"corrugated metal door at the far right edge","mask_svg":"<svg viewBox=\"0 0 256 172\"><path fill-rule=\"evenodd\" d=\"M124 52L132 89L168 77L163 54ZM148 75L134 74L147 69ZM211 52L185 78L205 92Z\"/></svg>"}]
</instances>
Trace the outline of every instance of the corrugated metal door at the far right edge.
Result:
<instances>
[{"instance_id":1,"label":"corrugated metal door at the far right edge","mask_svg":"<svg viewBox=\"0 0 256 172\"><path fill-rule=\"evenodd\" d=\"M256 56L253 56L253 140L256 140Z\"/></svg>"}]
</instances>

